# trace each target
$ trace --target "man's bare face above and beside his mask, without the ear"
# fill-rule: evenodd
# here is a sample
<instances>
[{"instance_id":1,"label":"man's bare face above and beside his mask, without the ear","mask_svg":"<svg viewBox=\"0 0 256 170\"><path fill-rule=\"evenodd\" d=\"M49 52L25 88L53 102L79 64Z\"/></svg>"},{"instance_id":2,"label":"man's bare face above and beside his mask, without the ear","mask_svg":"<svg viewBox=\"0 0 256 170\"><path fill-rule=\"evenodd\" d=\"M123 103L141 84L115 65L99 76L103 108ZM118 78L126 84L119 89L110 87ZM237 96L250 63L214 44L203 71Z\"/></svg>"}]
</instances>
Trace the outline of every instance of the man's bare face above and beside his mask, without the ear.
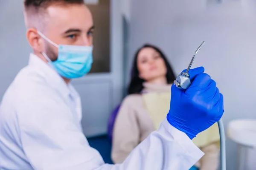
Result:
<instances>
[{"instance_id":1,"label":"man's bare face above and beside his mask, without the ear","mask_svg":"<svg viewBox=\"0 0 256 170\"><path fill-rule=\"evenodd\" d=\"M44 34L56 44L93 45L93 19L85 5L49 6ZM57 59L58 48L44 41L44 52L53 61Z\"/></svg>"}]
</instances>

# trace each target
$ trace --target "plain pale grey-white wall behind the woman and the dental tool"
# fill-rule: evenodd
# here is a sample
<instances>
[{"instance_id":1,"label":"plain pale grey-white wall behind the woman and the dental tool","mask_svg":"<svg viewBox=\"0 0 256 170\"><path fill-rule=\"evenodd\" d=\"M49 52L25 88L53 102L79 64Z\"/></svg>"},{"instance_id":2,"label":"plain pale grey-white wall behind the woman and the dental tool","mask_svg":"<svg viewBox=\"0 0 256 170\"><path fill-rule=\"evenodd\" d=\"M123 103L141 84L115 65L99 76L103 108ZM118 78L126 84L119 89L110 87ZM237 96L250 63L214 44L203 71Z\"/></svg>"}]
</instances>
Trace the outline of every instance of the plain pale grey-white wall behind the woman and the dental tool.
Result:
<instances>
[{"instance_id":1,"label":"plain pale grey-white wall behind the woman and the dental tool","mask_svg":"<svg viewBox=\"0 0 256 170\"><path fill-rule=\"evenodd\" d=\"M192 67L204 66L217 82L224 95L225 126L233 119L255 119L255 8L245 0L208 1L133 0L128 68L137 48L151 42L163 49L179 74L206 41ZM236 153L236 144L228 139L227 170L236 169ZM250 162L251 167L255 164Z\"/></svg>"}]
</instances>

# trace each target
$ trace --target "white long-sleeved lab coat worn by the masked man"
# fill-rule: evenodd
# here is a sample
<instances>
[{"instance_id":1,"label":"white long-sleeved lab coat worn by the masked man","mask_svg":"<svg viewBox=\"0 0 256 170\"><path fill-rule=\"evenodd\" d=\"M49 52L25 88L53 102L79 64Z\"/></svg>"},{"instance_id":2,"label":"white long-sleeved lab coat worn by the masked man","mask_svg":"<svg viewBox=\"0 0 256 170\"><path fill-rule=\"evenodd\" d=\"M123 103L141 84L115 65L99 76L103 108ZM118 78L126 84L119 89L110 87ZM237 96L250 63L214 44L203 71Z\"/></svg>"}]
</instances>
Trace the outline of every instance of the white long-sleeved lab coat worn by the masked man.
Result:
<instances>
[{"instance_id":1,"label":"white long-sleeved lab coat worn by the masked man","mask_svg":"<svg viewBox=\"0 0 256 170\"><path fill-rule=\"evenodd\" d=\"M164 120L122 164L105 164L80 121L79 94L31 54L0 105L0 170L188 170L204 155Z\"/></svg>"}]
</instances>

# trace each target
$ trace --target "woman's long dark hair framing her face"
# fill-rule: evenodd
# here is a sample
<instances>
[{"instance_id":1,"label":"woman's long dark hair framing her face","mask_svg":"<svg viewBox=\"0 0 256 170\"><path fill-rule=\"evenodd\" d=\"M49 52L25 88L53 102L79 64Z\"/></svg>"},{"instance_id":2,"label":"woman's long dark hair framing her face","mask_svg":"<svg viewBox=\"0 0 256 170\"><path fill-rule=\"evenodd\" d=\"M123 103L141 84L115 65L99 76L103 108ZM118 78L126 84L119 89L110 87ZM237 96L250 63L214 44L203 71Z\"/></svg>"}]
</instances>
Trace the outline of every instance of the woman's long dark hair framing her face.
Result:
<instances>
[{"instance_id":1,"label":"woman's long dark hair framing her face","mask_svg":"<svg viewBox=\"0 0 256 170\"><path fill-rule=\"evenodd\" d=\"M166 65L166 68L167 68L166 79L167 79L168 84L172 83L176 79L176 77L175 77L175 75L172 71L172 67L169 64L169 62L168 62L166 56L163 54L163 52L154 45L145 44L137 50L137 52L134 56L133 67L132 67L132 70L131 70L131 82L130 82L130 85L129 85L129 88L128 88L128 94L140 94L141 91L144 88L143 87L143 82L145 82L145 80L141 79L139 77L139 70L138 70L138 67L137 67L138 54L143 48L153 48L163 58L163 60L165 62L165 65Z\"/></svg>"}]
</instances>

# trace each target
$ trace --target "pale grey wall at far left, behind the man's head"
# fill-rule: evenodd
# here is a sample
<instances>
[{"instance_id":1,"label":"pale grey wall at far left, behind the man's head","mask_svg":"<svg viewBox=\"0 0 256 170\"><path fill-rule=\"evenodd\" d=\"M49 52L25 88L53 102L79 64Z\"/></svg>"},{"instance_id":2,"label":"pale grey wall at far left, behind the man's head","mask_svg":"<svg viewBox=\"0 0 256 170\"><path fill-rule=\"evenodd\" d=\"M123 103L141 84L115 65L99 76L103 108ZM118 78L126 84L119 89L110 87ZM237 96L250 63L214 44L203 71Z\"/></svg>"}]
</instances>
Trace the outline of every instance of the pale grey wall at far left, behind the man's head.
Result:
<instances>
[{"instance_id":1,"label":"pale grey wall at far left, behind the man's head","mask_svg":"<svg viewBox=\"0 0 256 170\"><path fill-rule=\"evenodd\" d=\"M0 99L18 71L28 63L22 0L0 0Z\"/></svg>"}]
</instances>

